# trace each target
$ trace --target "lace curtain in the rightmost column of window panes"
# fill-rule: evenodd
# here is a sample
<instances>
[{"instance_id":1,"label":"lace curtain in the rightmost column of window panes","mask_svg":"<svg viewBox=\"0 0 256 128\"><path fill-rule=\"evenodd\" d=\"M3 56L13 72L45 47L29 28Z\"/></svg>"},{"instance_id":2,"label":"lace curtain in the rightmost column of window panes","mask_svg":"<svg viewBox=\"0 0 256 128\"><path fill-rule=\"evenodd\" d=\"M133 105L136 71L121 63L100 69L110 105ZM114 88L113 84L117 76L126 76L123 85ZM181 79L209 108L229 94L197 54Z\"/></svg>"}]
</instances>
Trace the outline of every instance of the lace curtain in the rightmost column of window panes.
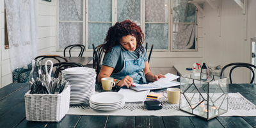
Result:
<instances>
[{"instance_id":1,"label":"lace curtain in the rightmost column of window panes","mask_svg":"<svg viewBox=\"0 0 256 128\"><path fill-rule=\"evenodd\" d=\"M173 22L195 22L196 7L189 0L173 0ZM195 49L195 24L173 24L173 49Z\"/></svg>"}]
</instances>

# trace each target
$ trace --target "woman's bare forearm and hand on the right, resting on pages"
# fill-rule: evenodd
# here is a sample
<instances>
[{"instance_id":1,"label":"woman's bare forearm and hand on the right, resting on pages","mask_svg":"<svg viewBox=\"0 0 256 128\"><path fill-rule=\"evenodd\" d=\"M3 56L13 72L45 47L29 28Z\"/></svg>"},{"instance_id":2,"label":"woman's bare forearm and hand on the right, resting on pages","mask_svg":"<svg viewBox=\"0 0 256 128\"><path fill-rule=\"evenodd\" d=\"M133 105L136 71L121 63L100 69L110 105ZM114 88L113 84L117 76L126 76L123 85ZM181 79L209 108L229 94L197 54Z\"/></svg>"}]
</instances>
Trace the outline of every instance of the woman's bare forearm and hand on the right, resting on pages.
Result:
<instances>
[{"instance_id":1,"label":"woman's bare forearm and hand on the right, resting on pages","mask_svg":"<svg viewBox=\"0 0 256 128\"><path fill-rule=\"evenodd\" d=\"M162 74L158 74L158 75L153 75L151 72L150 72L150 69L149 69L149 64L148 64L148 61L145 61L145 68L143 69L144 73L145 73L145 77L147 79L147 81L149 82L154 82L154 81L157 81L158 79L160 79L161 77L164 77Z\"/></svg>"}]
</instances>

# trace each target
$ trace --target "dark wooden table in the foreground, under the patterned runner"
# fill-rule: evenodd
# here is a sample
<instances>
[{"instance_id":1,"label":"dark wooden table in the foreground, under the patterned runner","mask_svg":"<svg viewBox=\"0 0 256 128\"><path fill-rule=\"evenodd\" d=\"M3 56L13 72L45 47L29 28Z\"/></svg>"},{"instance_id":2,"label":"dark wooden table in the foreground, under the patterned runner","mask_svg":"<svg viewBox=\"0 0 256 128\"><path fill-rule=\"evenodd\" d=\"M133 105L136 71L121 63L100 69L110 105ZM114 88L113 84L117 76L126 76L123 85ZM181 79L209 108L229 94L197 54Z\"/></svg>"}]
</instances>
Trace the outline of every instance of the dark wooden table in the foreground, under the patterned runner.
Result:
<instances>
[{"instance_id":1,"label":"dark wooden table in the foreground, under the patterned runner","mask_svg":"<svg viewBox=\"0 0 256 128\"><path fill-rule=\"evenodd\" d=\"M96 90L101 90L95 86ZM113 88L113 91L118 88ZM256 104L255 84L230 84L230 92L239 92ZM60 122L26 120L24 94L28 84L12 83L0 89L0 127L256 127L256 116L216 117L209 121L196 116L81 116L66 115ZM163 90L156 90L163 92Z\"/></svg>"}]
</instances>

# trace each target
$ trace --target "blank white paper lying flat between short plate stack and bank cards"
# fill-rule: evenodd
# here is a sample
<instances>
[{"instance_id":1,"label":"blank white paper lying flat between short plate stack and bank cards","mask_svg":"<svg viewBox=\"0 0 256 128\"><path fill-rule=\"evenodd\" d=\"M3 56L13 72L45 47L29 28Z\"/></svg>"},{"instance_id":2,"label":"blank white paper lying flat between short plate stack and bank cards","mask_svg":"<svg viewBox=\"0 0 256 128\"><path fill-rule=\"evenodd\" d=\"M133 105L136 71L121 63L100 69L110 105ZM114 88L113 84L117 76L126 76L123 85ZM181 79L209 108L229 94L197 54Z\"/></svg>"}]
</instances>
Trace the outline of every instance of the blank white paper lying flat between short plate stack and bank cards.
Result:
<instances>
[{"instance_id":1,"label":"blank white paper lying flat between short plate stack and bank cards","mask_svg":"<svg viewBox=\"0 0 256 128\"><path fill-rule=\"evenodd\" d=\"M124 95L125 102L144 102L147 99L149 90L137 92L134 90L121 88L118 93Z\"/></svg>"}]
</instances>

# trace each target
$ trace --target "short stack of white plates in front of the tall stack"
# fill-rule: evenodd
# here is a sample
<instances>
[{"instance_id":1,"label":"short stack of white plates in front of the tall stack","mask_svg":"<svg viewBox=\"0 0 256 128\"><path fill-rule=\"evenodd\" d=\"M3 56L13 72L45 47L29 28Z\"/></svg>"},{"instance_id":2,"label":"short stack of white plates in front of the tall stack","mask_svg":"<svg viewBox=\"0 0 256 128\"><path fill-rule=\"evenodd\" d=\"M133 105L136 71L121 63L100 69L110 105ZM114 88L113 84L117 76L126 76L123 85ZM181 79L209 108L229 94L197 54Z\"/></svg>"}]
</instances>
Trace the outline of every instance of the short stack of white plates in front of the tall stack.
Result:
<instances>
[{"instance_id":1,"label":"short stack of white plates in front of the tall stack","mask_svg":"<svg viewBox=\"0 0 256 128\"><path fill-rule=\"evenodd\" d=\"M112 111L124 105L124 95L117 92L102 92L90 97L90 107L100 111Z\"/></svg>"}]
</instances>

